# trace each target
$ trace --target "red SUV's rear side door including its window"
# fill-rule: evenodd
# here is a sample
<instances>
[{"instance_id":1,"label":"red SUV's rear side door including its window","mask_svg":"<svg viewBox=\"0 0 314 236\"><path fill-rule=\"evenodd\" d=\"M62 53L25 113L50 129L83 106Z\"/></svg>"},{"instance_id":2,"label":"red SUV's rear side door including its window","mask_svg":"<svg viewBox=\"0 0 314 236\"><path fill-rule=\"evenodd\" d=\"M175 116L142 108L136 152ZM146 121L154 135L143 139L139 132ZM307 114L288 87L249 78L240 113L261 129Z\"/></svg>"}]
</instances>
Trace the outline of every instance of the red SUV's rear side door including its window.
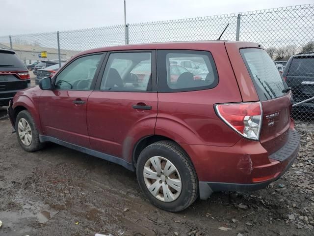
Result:
<instances>
[{"instance_id":1,"label":"red SUV's rear side door including its window","mask_svg":"<svg viewBox=\"0 0 314 236\"><path fill-rule=\"evenodd\" d=\"M155 51L112 52L105 61L97 81L99 90L91 93L87 103L90 143L111 155L111 161L118 159L121 164L122 158L130 163L135 142L155 130Z\"/></svg>"}]
</instances>

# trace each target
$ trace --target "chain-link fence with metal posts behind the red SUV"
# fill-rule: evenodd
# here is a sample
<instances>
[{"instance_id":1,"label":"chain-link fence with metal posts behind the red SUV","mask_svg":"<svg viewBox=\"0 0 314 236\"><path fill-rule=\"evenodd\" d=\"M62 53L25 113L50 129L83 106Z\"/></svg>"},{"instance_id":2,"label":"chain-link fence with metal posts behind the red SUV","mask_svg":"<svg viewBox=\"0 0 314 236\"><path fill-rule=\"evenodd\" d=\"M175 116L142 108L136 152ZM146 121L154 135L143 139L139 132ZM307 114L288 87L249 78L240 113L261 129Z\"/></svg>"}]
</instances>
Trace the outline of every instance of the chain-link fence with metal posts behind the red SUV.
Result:
<instances>
[{"instance_id":1,"label":"chain-link fence with metal posts behind the red SUV","mask_svg":"<svg viewBox=\"0 0 314 236\"><path fill-rule=\"evenodd\" d=\"M26 65L51 60L59 64L78 52L125 43L216 40L259 42L291 88L294 101L314 96L314 4L181 20L127 24L49 33L0 36ZM41 58L47 52L47 58ZM293 58L291 58L293 56ZM289 58L291 58L289 60ZM314 101L293 108L292 116L314 121Z\"/></svg>"}]
</instances>

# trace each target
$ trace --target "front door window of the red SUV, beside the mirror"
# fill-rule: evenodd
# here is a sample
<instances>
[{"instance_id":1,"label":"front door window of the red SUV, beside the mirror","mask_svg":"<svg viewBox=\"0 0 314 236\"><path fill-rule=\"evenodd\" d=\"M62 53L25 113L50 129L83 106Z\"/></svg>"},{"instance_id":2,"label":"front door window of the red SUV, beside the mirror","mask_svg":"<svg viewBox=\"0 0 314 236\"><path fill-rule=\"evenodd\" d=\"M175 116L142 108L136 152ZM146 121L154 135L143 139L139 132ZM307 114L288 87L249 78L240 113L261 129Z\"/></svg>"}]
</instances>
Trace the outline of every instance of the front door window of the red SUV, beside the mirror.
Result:
<instances>
[{"instance_id":1,"label":"front door window of the red SUV, beside the mirror","mask_svg":"<svg viewBox=\"0 0 314 236\"><path fill-rule=\"evenodd\" d=\"M54 88L89 90L102 54L78 58L57 75Z\"/></svg>"}]
</instances>

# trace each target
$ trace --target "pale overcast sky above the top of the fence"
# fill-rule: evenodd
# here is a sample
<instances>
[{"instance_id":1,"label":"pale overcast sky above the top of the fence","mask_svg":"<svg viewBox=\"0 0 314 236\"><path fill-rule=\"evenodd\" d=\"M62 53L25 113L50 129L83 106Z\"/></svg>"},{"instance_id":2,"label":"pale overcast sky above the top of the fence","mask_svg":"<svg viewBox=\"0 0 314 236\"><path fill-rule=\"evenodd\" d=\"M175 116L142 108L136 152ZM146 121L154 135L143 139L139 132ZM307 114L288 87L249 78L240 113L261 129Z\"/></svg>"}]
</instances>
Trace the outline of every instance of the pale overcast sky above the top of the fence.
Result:
<instances>
[{"instance_id":1,"label":"pale overcast sky above the top of the fence","mask_svg":"<svg viewBox=\"0 0 314 236\"><path fill-rule=\"evenodd\" d=\"M314 0L126 0L127 23L313 3ZM124 24L123 0L0 0L0 35Z\"/></svg>"}]
</instances>

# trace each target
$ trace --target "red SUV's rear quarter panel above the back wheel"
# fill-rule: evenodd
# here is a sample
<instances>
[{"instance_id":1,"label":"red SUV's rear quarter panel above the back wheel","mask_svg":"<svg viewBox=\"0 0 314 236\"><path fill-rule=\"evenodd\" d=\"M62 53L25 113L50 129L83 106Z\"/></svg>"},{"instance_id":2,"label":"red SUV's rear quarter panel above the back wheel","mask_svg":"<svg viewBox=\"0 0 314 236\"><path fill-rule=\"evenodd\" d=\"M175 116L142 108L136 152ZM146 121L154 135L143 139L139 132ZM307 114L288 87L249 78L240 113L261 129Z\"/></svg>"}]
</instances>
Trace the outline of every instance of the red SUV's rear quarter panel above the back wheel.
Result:
<instances>
[{"instance_id":1,"label":"red SUV's rear quarter panel above the back wheel","mask_svg":"<svg viewBox=\"0 0 314 236\"><path fill-rule=\"evenodd\" d=\"M240 136L214 111L216 103L242 101L224 44L184 49L209 51L216 64L219 83L213 89L158 93L155 133L180 144L233 146Z\"/></svg>"}]
</instances>

